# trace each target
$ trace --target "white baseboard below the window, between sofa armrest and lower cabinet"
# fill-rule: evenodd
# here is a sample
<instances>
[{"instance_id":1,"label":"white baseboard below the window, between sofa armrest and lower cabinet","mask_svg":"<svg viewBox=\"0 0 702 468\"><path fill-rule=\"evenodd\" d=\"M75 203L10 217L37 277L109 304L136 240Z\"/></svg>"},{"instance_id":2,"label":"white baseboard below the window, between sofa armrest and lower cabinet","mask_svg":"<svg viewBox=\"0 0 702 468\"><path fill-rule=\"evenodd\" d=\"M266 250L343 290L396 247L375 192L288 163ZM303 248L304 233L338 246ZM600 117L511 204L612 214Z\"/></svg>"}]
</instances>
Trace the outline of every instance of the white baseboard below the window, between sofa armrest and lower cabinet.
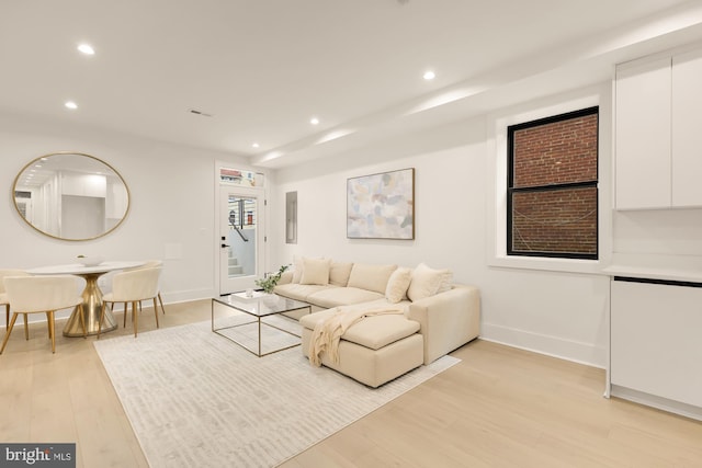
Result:
<instances>
[{"instance_id":1,"label":"white baseboard below the window, between sofa armrest and lower cabinet","mask_svg":"<svg viewBox=\"0 0 702 468\"><path fill-rule=\"evenodd\" d=\"M480 340L601 369L607 367L607 349L596 346L593 343L564 340L494 323L480 326Z\"/></svg>"}]
</instances>

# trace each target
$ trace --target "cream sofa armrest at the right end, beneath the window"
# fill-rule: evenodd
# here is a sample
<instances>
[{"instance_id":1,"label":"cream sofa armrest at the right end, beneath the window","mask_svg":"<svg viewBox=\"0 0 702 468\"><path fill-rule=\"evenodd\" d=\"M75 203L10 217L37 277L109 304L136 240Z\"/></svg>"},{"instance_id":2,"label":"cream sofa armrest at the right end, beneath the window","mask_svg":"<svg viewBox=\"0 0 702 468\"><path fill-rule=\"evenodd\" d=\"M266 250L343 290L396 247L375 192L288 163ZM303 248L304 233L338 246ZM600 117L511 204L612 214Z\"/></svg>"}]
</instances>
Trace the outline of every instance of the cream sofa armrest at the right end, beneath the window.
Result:
<instances>
[{"instance_id":1,"label":"cream sofa armrest at the right end, beneath the window","mask_svg":"<svg viewBox=\"0 0 702 468\"><path fill-rule=\"evenodd\" d=\"M476 339L480 333L480 293L477 287L452 289L409 305L407 318L419 322L424 338L424 365Z\"/></svg>"}]
</instances>

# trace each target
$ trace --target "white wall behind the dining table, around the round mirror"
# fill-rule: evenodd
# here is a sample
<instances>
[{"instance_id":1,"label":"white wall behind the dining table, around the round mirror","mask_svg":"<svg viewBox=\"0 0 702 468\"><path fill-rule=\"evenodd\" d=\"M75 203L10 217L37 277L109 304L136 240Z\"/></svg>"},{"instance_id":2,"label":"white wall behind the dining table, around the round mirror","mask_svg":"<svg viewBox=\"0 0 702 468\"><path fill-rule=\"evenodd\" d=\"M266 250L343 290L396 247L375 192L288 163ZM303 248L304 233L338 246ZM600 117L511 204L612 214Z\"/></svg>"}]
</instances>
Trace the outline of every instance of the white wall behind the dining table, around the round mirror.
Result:
<instances>
[{"instance_id":1,"label":"white wall behind the dining table, around the round mirror","mask_svg":"<svg viewBox=\"0 0 702 468\"><path fill-rule=\"evenodd\" d=\"M14 176L32 159L79 151L113 165L131 192L127 219L91 241L60 241L27 226L11 202ZM216 160L230 155L127 137L66 123L0 114L0 264L29 269L76 263L78 254L107 260L165 260L166 301L210 297L215 290ZM106 279L106 277L105 277ZM109 290L109 282L101 281Z\"/></svg>"}]
</instances>

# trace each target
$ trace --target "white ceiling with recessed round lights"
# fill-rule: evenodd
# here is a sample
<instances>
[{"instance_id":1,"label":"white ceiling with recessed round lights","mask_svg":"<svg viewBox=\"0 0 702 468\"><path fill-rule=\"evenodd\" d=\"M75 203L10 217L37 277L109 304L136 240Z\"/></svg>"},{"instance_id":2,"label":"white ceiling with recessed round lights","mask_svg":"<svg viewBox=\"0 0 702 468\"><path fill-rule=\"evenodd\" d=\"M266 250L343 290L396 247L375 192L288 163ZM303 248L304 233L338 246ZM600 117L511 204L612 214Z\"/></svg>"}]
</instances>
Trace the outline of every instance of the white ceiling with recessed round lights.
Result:
<instances>
[{"instance_id":1,"label":"white ceiling with recessed round lights","mask_svg":"<svg viewBox=\"0 0 702 468\"><path fill-rule=\"evenodd\" d=\"M698 39L702 1L2 0L0 110L282 168Z\"/></svg>"}]
</instances>

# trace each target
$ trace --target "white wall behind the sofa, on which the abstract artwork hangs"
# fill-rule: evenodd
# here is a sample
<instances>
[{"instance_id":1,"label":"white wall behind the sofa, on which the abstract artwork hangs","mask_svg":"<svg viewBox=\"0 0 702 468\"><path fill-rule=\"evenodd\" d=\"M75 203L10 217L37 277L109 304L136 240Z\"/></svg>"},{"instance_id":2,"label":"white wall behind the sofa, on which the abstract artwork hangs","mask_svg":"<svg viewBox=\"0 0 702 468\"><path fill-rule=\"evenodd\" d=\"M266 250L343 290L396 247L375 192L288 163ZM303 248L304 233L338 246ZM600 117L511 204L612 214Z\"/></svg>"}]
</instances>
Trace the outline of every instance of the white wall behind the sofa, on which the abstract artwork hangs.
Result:
<instances>
[{"instance_id":1,"label":"white wall behind the sofa, on which the abstract artwork hangs","mask_svg":"<svg viewBox=\"0 0 702 468\"><path fill-rule=\"evenodd\" d=\"M607 89L607 87L605 87ZM482 292L482 336L604 367L609 279L597 274L488 265L487 209L494 186L486 117L350 151L276 173L271 229L273 263L294 254L453 270ZM416 239L346 238L348 178L416 169ZM607 179L607 178L605 178ZM297 191L297 244L285 244L285 193Z\"/></svg>"}]
</instances>

